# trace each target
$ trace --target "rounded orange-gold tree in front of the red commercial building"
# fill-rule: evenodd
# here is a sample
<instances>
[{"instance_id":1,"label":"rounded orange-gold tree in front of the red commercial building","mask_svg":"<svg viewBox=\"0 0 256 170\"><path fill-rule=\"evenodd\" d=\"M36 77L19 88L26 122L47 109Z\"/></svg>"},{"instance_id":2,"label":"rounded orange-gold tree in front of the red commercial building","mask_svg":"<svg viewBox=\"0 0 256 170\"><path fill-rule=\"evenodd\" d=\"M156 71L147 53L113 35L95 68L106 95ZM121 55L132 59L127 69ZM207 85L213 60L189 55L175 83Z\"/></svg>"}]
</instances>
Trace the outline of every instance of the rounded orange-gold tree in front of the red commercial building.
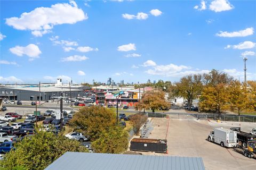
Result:
<instances>
[{"instance_id":1,"label":"rounded orange-gold tree in front of the red commercial building","mask_svg":"<svg viewBox=\"0 0 256 170\"><path fill-rule=\"evenodd\" d=\"M165 93L162 90L150 90L145 92L141 101L136 105L138 110L140 107L145 109L152 109L155 113L156 109L169 107L170 104L165 100Z\"/></svg>"}]
</instances>

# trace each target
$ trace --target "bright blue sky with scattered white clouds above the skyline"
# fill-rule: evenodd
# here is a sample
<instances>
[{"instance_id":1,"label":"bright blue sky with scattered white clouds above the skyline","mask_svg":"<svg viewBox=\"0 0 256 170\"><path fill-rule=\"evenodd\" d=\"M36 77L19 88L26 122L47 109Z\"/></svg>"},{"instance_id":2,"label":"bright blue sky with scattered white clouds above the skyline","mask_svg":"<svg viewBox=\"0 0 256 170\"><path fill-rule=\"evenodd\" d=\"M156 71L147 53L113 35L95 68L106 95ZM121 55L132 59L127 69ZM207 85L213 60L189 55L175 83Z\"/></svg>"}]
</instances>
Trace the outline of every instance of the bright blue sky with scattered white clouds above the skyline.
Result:
<instances>
[{"instance_id":1,"label":"bright blue sky with scattered white clouds above the skyline","mask_svg":"<svg viewBox=\"0 0 256 170\"><path fill-rule=\"evenodd\" d=\"M1 1L1 83L256 80L255 1Z\"/></svg>"}]
</instances>

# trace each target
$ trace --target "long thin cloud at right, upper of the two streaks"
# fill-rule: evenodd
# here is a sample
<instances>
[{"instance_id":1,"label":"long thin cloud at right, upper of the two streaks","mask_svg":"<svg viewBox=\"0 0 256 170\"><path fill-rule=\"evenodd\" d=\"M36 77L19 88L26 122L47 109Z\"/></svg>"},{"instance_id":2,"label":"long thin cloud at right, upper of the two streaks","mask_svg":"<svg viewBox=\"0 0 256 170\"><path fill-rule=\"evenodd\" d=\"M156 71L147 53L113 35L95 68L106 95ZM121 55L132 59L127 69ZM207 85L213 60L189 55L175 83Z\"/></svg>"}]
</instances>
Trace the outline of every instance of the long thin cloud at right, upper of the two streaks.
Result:
<instances>
[{"instance_id":1,"label":"long thin cloud at right, upper of the two streaks","mask_svg":"<svg viewBox=\"0 0 256 170\"><path fill-rule=\"evenodd\" d=\"M246 37L253 35L254 29L246 28L245 30L240 31L234 31L234 32L227 32L227 31L220 31L219 33L216 33L216 36L218 37Z\"/></svg>"}]
</instances>

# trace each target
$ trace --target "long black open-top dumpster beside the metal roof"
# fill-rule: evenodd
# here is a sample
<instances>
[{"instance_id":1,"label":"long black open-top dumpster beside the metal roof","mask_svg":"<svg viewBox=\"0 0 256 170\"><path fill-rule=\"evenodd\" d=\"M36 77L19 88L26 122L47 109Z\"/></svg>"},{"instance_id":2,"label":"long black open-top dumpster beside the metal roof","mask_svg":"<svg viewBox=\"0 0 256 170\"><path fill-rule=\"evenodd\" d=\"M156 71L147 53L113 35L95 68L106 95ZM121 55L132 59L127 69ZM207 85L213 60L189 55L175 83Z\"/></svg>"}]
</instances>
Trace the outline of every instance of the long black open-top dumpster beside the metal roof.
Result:
<instances>
[{"instance_id":1,"label":"long black open-top dumpster beside the metal roof","mask_svg":"<svg viewBox=\"0 0 256 170\"><path fill-rule=\"evenodd\" d=\"M130 150L166 153L167 140L166 139L134 138L131 140Z\"/></svg>"}]
</instances>

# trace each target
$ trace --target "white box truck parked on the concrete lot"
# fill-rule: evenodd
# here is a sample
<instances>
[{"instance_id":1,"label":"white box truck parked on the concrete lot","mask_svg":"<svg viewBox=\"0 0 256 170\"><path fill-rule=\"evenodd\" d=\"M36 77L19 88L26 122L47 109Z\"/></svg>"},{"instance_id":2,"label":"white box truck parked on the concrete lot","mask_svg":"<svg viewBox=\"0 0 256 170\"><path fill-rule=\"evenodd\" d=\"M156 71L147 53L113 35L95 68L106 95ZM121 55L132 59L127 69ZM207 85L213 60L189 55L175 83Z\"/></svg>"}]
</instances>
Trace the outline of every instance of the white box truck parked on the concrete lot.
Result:
<instances>
[{"instance_id":1,"label":"white box truck parked on the concrete lot","mask_svg":"<svg viewBox=\"0 0 256 170\"><path fill-rule=\"evenodd\" d=\"M237 132L224 128L215 128L208 136L208 141L220 144L222 147L237 145Z\"/></svg>"}]
</instances>

